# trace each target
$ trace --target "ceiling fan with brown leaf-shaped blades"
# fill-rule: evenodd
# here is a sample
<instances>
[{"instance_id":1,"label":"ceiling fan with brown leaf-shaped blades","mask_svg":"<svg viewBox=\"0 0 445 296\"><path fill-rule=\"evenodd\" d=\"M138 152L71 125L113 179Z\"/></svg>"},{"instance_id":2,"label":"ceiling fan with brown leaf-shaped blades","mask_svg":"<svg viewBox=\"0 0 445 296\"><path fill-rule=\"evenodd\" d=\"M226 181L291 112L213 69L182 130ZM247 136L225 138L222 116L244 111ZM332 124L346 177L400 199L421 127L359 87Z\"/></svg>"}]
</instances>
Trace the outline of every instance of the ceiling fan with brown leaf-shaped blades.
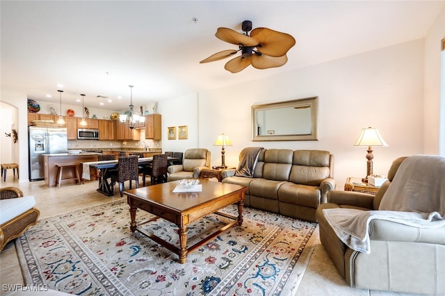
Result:
<instances>
[{"instance_id":1,"label":"ceiling fan with brown leaf-shaped blades","mask_svg":"<svg viewBox=\"0 0 445 296\"><path fill-rule=\"evenodd\" d=\"M287 51L296 43L295 39L287 33L274 31L270 28L254 28L252 30L251 21L244 21L241 29L245 33L238 33L231 28L218 28L215 33L216 37L238 45L238 50L227 49L217 52L209 58L201 60L200 63L223 60L241 51L241 56L237 56L225 64L224 68L227 71L238 73L249 65L257 69L281 67L287 62Z\"/></svg>"}]
</instances>

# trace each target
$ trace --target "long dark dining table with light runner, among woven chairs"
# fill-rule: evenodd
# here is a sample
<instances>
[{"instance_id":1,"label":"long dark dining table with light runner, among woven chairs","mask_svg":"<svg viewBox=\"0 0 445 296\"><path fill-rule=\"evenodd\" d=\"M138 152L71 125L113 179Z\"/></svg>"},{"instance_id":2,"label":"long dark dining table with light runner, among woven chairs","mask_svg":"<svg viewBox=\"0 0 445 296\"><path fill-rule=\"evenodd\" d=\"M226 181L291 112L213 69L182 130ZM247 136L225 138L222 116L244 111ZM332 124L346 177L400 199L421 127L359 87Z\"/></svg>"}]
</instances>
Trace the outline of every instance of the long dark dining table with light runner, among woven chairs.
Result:
<instances>
[{"instance_id":1,"label":"long dark dining table with light runner, among woven chairs","mask_svg":"<svg viewBox=\"0 0 445 296\"><path fill-rule=\"evenodd\" d=\"M179 158L168 156L168 165L173 165L173 161ZM153 157L138 158L138 165L141 167L148 166L153 163ZM115 161L90 161L82 163L82 179L90 180L90 167L95 167L99 172L99 187L98 192L107 196L114 195L114 186L111 183L111 172L118 170L118 160Z\"/></svg>"}]
</instances>

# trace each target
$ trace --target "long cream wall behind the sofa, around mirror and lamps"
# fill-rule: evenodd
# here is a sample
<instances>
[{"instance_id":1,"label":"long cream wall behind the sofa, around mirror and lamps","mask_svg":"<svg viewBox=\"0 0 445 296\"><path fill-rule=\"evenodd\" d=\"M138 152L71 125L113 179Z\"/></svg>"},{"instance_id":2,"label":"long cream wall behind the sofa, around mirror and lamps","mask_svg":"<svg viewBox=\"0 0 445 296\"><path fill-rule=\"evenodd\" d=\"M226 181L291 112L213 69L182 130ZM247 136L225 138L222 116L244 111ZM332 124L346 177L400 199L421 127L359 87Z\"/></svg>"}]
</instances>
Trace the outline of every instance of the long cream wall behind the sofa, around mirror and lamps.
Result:
<instances>
[{"instance_id":1,"label":"long cream wall behind the sofa, around mirror and lamps","mask_svg":"<svg viewBox=\"0 0 445 296\"><path fill-rule=\"evenodd\" d=\"M338 188L343 188L346 177L366 174L366 147L353 147L363 128L378 128L389 144L374 148L375 173L387 174L398 156L422 153L423 48L423 40L416 40L201 92L199 117L195 120L193 113L188 122L199 122L199 144L211 150L212 165L221 161L220 147L213 146L220 133L229 135L233 144L225 149L226 165L238 164L243 147L328 150L335 156ZM312 96L319 99L318 141L251 141L252 105ZM167 108L173 101L160 102L160 106ZM168 121L168 116L164 118Z\"/></svg>"}]
</instances>

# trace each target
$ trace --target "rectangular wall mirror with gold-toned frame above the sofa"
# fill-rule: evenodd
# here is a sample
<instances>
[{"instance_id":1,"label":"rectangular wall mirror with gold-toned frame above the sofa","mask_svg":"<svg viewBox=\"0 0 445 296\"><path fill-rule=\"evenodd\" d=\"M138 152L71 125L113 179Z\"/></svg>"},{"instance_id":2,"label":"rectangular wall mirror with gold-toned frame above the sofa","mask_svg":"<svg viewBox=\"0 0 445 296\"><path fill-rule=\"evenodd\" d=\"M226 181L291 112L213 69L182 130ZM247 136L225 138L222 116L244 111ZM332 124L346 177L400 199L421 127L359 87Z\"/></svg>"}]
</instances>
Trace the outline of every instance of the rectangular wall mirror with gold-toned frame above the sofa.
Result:
<instances>
[{"instance_id":1,"label":"rectangular wall mirror with gold-toned frame above the sofa","mask_svg":"<svg viewBox=\"0 0 445 296\"><path fill-rule=\"evenodd\" d=\"M318 97L252 106L252 141L318 140Z\"/></svg>"}]
</instances>

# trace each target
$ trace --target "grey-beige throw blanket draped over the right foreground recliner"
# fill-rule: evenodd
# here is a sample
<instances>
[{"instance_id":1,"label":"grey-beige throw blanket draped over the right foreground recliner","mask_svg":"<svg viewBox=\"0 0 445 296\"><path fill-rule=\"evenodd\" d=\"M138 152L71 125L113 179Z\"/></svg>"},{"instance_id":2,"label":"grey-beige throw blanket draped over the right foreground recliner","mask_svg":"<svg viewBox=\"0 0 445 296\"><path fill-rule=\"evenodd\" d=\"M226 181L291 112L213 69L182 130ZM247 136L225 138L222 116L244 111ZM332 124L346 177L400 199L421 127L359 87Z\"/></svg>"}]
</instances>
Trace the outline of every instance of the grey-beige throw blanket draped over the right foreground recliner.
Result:
<instances>
[{"instance_id":1,"label":"grey-beige throw blanket draped over the right foreground recliner","mask_svg":"<svg viewBox=\"0 0 445 296\"><path fill-rule=\"evenodd\" d=\"M337 236L351 249L369 254L371 220L419 228L445 226L445 157L410 156L403 161L382 198L379 211L323 210Z\"/></svg>"}]
</instances>

